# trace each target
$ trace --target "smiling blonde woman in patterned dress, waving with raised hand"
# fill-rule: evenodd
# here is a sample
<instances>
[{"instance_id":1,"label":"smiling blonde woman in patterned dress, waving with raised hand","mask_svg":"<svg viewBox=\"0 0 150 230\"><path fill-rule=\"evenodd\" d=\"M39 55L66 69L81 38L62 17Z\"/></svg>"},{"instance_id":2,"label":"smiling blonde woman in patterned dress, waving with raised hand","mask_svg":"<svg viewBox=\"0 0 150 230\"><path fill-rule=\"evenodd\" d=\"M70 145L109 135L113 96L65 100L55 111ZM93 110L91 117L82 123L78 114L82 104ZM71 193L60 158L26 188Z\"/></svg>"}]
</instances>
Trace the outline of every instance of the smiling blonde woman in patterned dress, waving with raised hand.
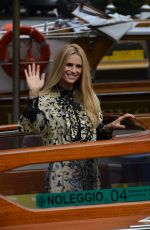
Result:
<instances>
[{"instance_id":1,"label":"smiling blonde woman in patterned dress, waving with raised hand","mask_svg":"<svg viewBox=\"0 0 150 230\"><path fill-rule=\"evenodd\" d=\"M103 125L100 102L91 86L90 68L83 49L65 45L50 76L40 76L39 66L25 69L29 87L26 113L20 116L21 130L40 132L44 145L69 144L111 138L114 128L134 118L125 114ZM50 163L46 192L99 189L100 172L93 159Z\"/></svg>"}]
</instances>

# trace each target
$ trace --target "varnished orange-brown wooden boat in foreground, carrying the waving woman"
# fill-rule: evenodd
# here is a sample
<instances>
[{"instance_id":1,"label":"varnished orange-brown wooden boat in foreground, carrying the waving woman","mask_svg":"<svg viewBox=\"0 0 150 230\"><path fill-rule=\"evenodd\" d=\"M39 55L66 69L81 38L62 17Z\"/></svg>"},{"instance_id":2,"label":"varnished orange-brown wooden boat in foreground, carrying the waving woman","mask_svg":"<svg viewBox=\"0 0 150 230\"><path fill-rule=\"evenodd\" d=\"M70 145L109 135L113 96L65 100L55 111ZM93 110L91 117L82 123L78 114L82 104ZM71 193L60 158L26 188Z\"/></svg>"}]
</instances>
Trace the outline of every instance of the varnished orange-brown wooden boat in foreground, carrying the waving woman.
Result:
<instances>
[{"instance_id":1,"label":"varnished orange-brown wooden boat in foreground, carrying the waving woman","mask_svg":"<svg viewBox=\"0 0 150 230\"><path fill-rule=\"evenodd\" d=\"M138 121L135 122L136 127L137 123ZM141 126L141 121L139 124ZM12 131L13 129L15 131L16 128L14 126L0 127L1 135L6 131ZM106 182L108 182L107 186L109 185L109 187L107 189L113 186L113 190L111 190L113 192L119 191L117 186L126 186L133 193L133 187L128 181L120 183L116 176L113 177L113 180L111 176L120 175L122 167L119 168L116 164L116 162L119 162L119 158L127 157L128 163L130 163L130 157L136 157L135 159L140 157L141 159L142 156L146 155L146 163L149 164L149 137L149 130L146 129L138 131L138 135L135 133L132 136L119 135L119 137L115 136L113 140L93 143L1 150L0 229L55 228L56 230L74 230L78 228L96 230L101 228L112 230L128 229L131 225L142 225L142 222L139 221L149 217L149 200L138 201L135 199L132 202L116 202L115 200L113 203L104 202L102 204L36 209L28 199L31 200L32 197L33 201L35 194L43 191L43 175L45 172L45 168L41 167L43 164L62 160L87 159L91 158L91 153L92 157L98 159L101 163L104 158L109 159L109 161L103 162L104 165L101 165L101 167L103 166L101 168L102 178L105 180L104 188L106 188ZM116 162L112 160L114 157L117 159ZM40 168L34 168L36 164L40 164ZM26 166L28 168L25 169ZM134 166L136 166L136 163ZM137 167L139 168L139 165ZM150 181L147 182L144 188L139 187L139 189L149 189ZM140 183L142 184L142 181ZM134 184L134 191L138 189L137 186L139 186L139 181ZM126 188L123 187L123 189ZM18 201L19 203L17 203Z\"/></svg>"}]
</instances>

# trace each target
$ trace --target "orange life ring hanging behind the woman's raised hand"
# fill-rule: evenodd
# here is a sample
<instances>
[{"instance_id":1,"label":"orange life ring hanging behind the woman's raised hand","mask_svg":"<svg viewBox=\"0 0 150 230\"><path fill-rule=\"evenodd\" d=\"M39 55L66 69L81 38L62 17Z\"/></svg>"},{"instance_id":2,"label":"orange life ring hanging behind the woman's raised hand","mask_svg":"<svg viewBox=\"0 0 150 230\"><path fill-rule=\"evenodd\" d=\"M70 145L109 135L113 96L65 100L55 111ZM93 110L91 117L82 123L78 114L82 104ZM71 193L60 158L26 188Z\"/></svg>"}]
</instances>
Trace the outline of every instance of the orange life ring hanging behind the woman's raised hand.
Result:
<instances>
[{"instance_id":1,"label":"orange life ring hanging behind the woman's raised hand","mask_svg":"<svg viewBox=\"0 0 150 230\"><path fill-rule=\"evenodd\" d=\"M24 59L20 58L20 77L24 78L24 69L27 65L35 62L40 65L41 72L45 69L49 59L50 59L50 46L46 41L45 36L35 28L29 26L20 27L20 35L28 35L30 45L28 45L26 57ZM9 75L13 76L13 58L8 52L8 46L12 42L13 31L10 30L0 40L0 63L3 70ZM31 49L32 41L39 45L39 57L34 57L33 51ZM12 53L12 51L11 51Z\"/></svg>"}]
</instances>

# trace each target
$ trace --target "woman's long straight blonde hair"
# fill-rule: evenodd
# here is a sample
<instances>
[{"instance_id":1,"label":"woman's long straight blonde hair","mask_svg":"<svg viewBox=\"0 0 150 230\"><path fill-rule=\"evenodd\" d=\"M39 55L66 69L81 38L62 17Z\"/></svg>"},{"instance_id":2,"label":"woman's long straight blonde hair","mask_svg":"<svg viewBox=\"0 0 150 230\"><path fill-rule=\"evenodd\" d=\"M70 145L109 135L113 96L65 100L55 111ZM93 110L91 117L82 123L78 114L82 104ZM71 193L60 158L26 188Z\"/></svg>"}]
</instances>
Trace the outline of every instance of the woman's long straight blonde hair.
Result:
<instances>
[{"instance_id":1,"label":"woman's long straight blonde hair","mask_svg":"<svg viewBox=\"0 0 150 230\"><path fill-rule=\"evenodd\" d=\"M58 85L62 75L64 74L64 68L67 59L70 55L77 54L82 59L82 76L76 82L74 87L74 95L83 105L84 109L89 114L89 117L94 127L99 124L99 115L101 113L100 102L94 93L91 85L90 67L84 50L77 44L65 45L57 55L53 70L51 74L47 76L46 84L41 91L42 95L52 92L56 85Z\"/></svg>"}]
</instances>

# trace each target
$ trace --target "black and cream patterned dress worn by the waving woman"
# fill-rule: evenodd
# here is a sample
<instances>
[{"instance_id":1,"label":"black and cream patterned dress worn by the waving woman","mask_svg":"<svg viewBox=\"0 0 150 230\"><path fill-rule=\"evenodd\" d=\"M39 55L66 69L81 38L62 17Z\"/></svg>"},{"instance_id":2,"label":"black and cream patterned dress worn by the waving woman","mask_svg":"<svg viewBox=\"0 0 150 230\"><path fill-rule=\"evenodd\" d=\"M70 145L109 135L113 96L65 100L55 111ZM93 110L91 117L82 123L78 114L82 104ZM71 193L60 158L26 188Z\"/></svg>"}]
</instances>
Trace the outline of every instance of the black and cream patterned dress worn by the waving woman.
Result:
<instances>
[{"instance_id":1,"label":"black and cream patterned dress worn by the waving woman","mask_svg":"<svg viewBox=\"0 0 150 230\"><path fill-rule=\"evenodd\" d=\"M88 114L72 91L62 90L51 95L29 98L27 109L20 116L21 131L38 132L43 145L96 141L110 134L102 125L93 128ZM99 189L100 171L95 159L49 163L45 192L67 192Z\"/></svg>"}]
</instances>

